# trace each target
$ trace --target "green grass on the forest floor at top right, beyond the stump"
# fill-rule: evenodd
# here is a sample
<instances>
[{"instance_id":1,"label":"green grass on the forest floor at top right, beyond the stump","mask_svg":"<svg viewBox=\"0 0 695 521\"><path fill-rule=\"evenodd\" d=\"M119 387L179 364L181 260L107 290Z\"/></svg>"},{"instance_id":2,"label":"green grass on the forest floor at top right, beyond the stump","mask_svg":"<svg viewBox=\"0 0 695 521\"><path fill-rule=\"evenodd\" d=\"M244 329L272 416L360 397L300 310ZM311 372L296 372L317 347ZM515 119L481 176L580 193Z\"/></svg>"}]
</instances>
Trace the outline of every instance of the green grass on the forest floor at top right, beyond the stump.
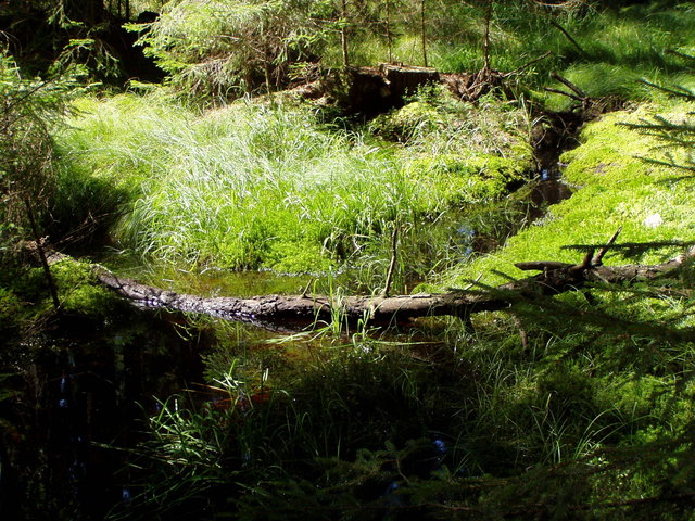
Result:
<instances>
[{"instance_id":1,"label":"green grass on the forest floor at top right, beyond the stump","mask_svg":"<svg viewBox=\"0 0 695 521\"><path fill-rule=\"evenodd\" d=\"M451 13L455 20L468 21L459 24L468 28L466 34L445 30L448 25L441 23L442 31L434 30L430 36L430 61L434 67L443 72L475 72L482 67L483 29L477 18L480 14L475 12L472 8L460 8ZM491 63L494 68L508 72L551 51L549 56L528 71L532 74L525 78L525 85L534 89L552 86L549 73L556 72L593 98L652 99L654 91L644 89L637 80L669 81L686 71L688 64L669 51L692 53L694 17L690 4L591 10L585 16L578 16L561 12L551 15L530 10L522 2L497 2ZM404 41L407 38L404 36ZM564 88L559 84L556 87ZM545 96L540 99L547 102ZM549 102L558 109L570 104L570 100L554 96Z\"/></svg>"}]
</instances>

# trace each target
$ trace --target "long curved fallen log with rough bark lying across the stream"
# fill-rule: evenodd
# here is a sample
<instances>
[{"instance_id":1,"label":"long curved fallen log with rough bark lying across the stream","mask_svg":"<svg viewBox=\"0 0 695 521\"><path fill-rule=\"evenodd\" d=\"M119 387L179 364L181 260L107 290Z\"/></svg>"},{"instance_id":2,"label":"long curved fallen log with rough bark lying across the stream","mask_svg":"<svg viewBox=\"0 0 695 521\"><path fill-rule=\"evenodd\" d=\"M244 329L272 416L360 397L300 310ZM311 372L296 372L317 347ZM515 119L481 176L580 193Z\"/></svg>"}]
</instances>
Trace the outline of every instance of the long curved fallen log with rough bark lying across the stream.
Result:
<instances>
[{"instance_id":1,"label":"long curved fallen log with rough bark lying across the stream","mask_svg":"<svg viewBox=\"0 0 695 521\"><path fill-rule=\"evenodd\" d=\"M517 267L539 270L539 275L508 282L482 291L452 290L444 294L415 294L400 296L343 296L327 295L264 295L250 298L202 297L140 284L121 278L99 267L101 283L124 297L147 307L201 313L228 320L258 325L306 325L312 321L330 321L336 314L356 322L405 322L426 316L451 315L467 318L473 313L509 308L515 302L533 300L541 295L555 295L577 290L586 283L630 283L668 277L679 270L687 257L695 256L695 249L668 263L643 266L602 266L591 263L591 255L578 265L540 262L519 263Z\"/></svg>"}]
</instances>

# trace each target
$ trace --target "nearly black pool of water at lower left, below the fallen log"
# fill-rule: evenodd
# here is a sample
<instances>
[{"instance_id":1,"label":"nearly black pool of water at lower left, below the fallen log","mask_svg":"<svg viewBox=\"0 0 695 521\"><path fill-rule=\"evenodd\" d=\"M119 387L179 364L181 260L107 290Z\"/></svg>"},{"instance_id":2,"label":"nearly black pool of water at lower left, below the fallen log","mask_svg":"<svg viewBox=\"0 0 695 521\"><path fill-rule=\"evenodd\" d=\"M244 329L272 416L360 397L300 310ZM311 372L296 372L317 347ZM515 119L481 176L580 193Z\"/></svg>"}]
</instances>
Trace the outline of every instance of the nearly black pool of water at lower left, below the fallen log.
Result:
<instances>
[{"instance_id":1,"label":"nearly black pool of water at lower left, below the fallen log","mask_svg":"<svg viewBox=\"0 0 695 521\"><path fill-rule=\"evenodd\" d=\"M65 317L1 361L0 519L103 519L128 500L124 467L156 398L201 381L199 342L165 316Z\"/></svg>"}]
</instances>

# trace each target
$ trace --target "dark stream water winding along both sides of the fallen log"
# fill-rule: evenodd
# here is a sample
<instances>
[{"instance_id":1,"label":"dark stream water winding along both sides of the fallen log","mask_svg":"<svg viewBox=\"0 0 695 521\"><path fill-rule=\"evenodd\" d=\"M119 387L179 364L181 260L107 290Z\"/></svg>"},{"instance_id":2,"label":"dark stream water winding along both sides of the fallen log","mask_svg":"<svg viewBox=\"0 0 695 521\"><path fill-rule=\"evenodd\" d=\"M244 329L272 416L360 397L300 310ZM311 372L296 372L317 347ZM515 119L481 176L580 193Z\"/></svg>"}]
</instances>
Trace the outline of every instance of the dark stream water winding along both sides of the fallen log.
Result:
<instances>
[{"instance_id":1,"label":"dark stream water winding along both sides of the fallen log","mask_svg":"<svg viewBox=\"0 0 695 521\"><path fill-rule=\"evenodd\" d=\"M570 195L560 179L557 154L548 154L535 180L509 196L501 218L495 217L496 207L475 219L446 215L437 227L455 255L467 258L500 247L542 217L547 206ZM419 254L431 266L404 269L397 291L410 291L438 264L416 232L402 239L400 256ZM119 275L203 296L296 294L313 283L316 292L330 287L371 289L370 279L361 279L351 268L317 281L313 275L157 268L114 253L100 254L97 260ZM206 364L225 356L211 328L163 310L122 310L103 323L63 316L46 332L28 334L0 351L0 363L11 368L0 376L5 393L0 401L0 518L96 520L104 519L113 506L127 508L137 491L126 462L147 439L147 419L169 396L205 381ZM222 334L237 352L261 350L264 356L295 360L313 356L305 343L278 347L274 333L250 326L230 328ZM320 344L315 342L316 350Z\"/></svg>"}]
</instances>

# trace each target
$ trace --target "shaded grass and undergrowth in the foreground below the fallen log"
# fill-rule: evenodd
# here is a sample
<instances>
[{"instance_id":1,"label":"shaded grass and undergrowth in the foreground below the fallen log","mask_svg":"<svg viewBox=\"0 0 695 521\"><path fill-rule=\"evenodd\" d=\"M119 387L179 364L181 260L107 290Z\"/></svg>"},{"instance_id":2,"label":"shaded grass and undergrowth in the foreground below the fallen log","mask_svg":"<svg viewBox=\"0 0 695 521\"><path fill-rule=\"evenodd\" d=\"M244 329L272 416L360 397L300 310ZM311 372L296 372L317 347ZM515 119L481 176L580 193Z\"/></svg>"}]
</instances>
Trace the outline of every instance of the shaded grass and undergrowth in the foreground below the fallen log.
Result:
<instances>
[{"instance_id":1,"label":"shaded grass and undergrowth in the foreground below the fallen log","mask_svg":"<svg viewBox=\"0 0 695 521\"><path fill-rule=\"evenodd\" d=\"M569 320L590 308L584 328ZM695 470L691 330L626 334L610 319L621 310L633 326L650 318L573 298L483 316L472 335L434 323L426 341L254 346L237 327L207 359L206 391L150 417L143 481L113 519L173 506L250 520L681 519Z\"/></svg>"}]
</instances>

